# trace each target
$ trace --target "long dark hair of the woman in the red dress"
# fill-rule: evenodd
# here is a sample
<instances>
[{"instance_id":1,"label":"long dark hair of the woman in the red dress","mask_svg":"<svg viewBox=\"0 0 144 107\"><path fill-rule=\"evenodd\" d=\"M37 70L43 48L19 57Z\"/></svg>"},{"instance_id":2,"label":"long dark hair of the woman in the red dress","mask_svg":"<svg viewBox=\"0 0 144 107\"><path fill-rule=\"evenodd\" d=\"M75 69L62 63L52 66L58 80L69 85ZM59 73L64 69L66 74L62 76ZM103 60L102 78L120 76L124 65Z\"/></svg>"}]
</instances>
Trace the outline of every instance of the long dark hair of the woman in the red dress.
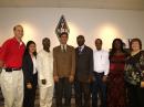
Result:
<instances>
[{"instance_id":1,"label":"long dark hair of the woman in the red dress","mask_svg":"<svg viewBox=\"0 0 144 107\"><path fill-rule=\"evenodd\" d=\"M115 44L116 41L119 41L119 42L121 43L121 51L125 53L125 51L124 51L124 49L123 49L123 47L124 47L123 41L122 41L121 39L114 39L114 40L113 40L113 43L112 43L112 50L110 51L110 56L113 56L114 53L116 52L116 49L115 49L115 46L114 46L114 44Z\"/></svg>"}]
</instances>

